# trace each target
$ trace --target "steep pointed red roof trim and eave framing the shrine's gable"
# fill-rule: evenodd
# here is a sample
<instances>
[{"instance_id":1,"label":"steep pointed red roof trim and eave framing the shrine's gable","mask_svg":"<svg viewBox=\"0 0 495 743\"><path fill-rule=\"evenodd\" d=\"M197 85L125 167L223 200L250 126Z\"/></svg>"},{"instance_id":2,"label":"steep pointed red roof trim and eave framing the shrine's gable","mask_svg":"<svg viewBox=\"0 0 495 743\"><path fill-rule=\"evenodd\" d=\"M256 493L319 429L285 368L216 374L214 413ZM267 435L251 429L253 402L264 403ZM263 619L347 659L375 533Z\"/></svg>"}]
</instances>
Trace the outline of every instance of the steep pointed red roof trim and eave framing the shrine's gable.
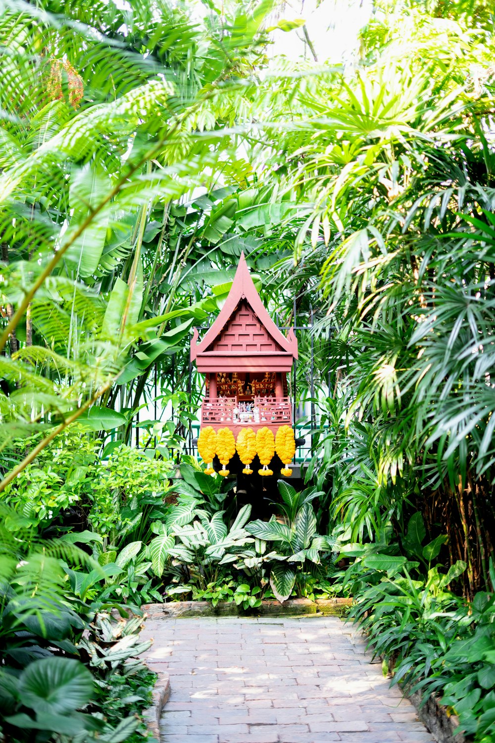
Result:
<instances>
[{"instance_id":1,"label":"steep pointed red roof trim and eave framing the shrine's gable","mask_svg":"<svg viewBox=\"0 0 495 743\"><path fill-rule=\"evenodd\" d=\"M265 328L269 336L271 336L278 345L280 348L279 351L250 351L249 353L246 353L246 351L239 351L237 354L235 351L230 351L229 354L225 354L221 351L211 350L214 340L216 340L223 332L224 328L226 328L226 325L228 325L229 320L231 320L235 315L235 312L243 299L246 300L247 305L252 309L260 324L263 325L263 328ZM215 319L213 325L209 328L199 343L197 343L198 337L199 334L197 329L194 328L194 335L191 339L191 361L197 360L199 371L228 371L231 368L235 369L235 361L232 357L235 358L236 355L243 357L243 362L240 366L239 360L237 359L238 369L253 369L253 371L255 369L279 369L280 371L288 371L292 366L293 359L297 359L298 357L298 342L295 338L293 329L290 328L288 336L285 337L269 316L249 274L249 267L246 263L244 253L240 254L240 261L237 266L237 271L235 272L232 287L217 319ZM220 357L225 356L231 358L230 362L225 358L220 360ZM255 360L255 357L257 360ZM266 358L261 362L259 357ZM277 357L276 359L274 358L275 366L269 366L269 357ZM281 357L283 357L283 359ZM217 364L217 368L214 368L214 358L216 358L219 363L219 365ZM208 366L208 369L205 366L207 359L208 363L206 366ZM249 365L249 359L251 359L251 366ZM200 363L200 361L202 363Z\"/></svg>"}]
</instances>

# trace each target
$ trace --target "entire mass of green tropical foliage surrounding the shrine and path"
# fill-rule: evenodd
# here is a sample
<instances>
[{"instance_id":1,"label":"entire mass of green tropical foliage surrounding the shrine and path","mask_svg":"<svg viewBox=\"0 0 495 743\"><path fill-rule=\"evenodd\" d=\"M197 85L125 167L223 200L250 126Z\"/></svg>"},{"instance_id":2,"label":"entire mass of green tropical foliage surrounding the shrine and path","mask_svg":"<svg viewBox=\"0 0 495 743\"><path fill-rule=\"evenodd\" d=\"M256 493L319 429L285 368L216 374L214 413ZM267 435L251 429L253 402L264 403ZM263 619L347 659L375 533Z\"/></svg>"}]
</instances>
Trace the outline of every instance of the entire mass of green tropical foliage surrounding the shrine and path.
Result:
<instances>
[{"instance_id":1,"label":"entire mass of green tropical foliage surrounding the shrine and path","mask_svg":"<svg viewBox=\"0 0 495 743\"><path fill-rule=\"evenodd\" d=\"M0 10L1 698L20 740L140 732L139 643L97 612L161 591L255 609L269 586L352 593L395 678L494 737L492 9L380 0L353 64L312 68L267 61L271 7ZM314 321L296 382L315 486L279 484L282 516L250 524L193 458L168 487L202 385L189 399L186 340L240 250L284 324ZM88 667L96 698L73 693Z\"/></svg>"}]
</instances>

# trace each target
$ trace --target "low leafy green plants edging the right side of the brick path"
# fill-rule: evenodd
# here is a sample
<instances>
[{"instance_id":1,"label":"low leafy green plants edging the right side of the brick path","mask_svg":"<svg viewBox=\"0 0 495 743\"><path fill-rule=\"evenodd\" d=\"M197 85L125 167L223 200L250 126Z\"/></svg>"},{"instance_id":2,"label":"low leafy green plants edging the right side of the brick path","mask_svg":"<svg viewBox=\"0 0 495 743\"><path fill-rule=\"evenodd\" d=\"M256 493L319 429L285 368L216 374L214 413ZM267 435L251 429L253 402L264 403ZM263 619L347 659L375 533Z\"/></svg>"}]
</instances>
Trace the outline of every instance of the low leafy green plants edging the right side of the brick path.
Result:
<instances>
[{"instance_id":1,"label":"low leafy green plants edging the right side of the brick path","mask_svg":"<svg viewBox=\"0 0 495 743\"><path fill-rule=\"evenodd\" d=\"M448 590L465 562L447 573L435 566L427 577L413 579L405 562L391 569L394 559L404 560L365 557L355 566L366 587L351 616L361 622L373 652L387 659L394 684L421 690L424 700L442 695L461 729L488 743L495 732L494 594L479 591L465 602Z\"/></svg>"}]
</instances>

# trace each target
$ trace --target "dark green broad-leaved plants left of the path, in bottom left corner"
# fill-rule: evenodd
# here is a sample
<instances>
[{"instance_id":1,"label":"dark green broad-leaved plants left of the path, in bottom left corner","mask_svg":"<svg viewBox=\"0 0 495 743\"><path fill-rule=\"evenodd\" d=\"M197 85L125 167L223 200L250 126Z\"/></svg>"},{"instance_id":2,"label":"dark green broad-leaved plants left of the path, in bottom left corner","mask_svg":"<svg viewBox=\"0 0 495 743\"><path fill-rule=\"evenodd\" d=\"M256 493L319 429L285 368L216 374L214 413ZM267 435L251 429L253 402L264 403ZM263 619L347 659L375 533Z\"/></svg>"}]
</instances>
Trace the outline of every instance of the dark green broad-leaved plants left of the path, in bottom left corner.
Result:
<instances>
[{"instance_id":1,"label":"dark green broad-leaved plants left of the path, in bottom left corner","mask_svg":"<svg viewBox=\"0 0 495 743\"><path fill-rule=\"evenodd\" d=\"M93 606L84 600L105 579L104 568L67 539L41 539L30 519L5 504L0 516L2 733L26 743L56 734L111 743L144 732L133 715L148 706L153 684L135 660L149 646L135 634L141 620L115 623L96 614L102 600ZM88 533L80 537L94 541ZM82 577L76 590L67 574ZM102 646L94 644L99 632Z\"/></svg>"}]
</instances>

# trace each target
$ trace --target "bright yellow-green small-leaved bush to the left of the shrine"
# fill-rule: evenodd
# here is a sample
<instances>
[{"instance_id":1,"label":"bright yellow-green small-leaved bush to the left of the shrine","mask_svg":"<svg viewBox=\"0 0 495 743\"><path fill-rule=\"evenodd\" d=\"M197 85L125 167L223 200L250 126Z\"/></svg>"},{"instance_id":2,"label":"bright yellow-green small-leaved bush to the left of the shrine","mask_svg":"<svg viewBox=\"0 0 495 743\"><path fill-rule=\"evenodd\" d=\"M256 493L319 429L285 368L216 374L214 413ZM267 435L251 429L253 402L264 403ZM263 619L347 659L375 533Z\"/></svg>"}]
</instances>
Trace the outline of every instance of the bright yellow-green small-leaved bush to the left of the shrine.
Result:
<instances>
[{"instance_id":1,"label":"bright yellow-green small-leaved bush to the left of the shrine","mask_svg":"<svg viewBox=\"0 0 495 743\"><path fill-rule=\"evenodd\" d=\"M17 441L16 450L40 438ZM98 458L98 444L82 426L65 430L7 485L5 501L42 528L65 532L88 525L96 532L95 542L105 540L105 548L96 551L148 539L151 522L165 513L173 464L124 444L105 461ZM73 540L83 542L80 534Z\"/></svg>"}]
</instances>

